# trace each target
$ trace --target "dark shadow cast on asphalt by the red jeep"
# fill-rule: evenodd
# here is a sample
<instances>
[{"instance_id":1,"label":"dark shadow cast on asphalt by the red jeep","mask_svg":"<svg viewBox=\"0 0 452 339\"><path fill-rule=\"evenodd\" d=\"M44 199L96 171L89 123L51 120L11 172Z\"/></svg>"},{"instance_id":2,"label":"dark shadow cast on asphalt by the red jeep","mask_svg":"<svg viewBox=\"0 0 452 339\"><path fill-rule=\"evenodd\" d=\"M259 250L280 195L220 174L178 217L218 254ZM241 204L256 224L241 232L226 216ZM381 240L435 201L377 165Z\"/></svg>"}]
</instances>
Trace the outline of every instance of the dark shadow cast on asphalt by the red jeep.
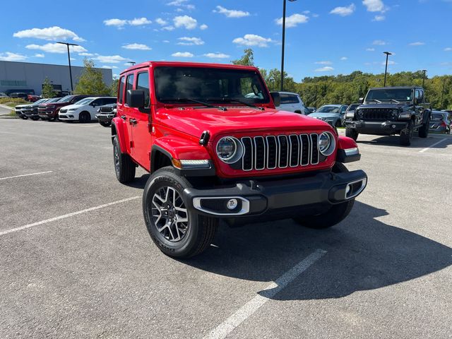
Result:
<instances>
[{"instance_id":1,"label":"dark shadow cast on asphalt by the red jeep","mask_svg":"<svg viewBox=\"0 0 452 339\"><path fill-rule=\"evenodd\" d=\"M452 264L452 249L376 218L387 215L355 203L329 230L267 222L221 230L215 246L184 263L227 277L274 281L316 249L327 253L273 299L339 298L403 283ZM217 247L218 246L218 247ZM268 295L268 291L261 292Z\"/></svg>"}]
</instances>

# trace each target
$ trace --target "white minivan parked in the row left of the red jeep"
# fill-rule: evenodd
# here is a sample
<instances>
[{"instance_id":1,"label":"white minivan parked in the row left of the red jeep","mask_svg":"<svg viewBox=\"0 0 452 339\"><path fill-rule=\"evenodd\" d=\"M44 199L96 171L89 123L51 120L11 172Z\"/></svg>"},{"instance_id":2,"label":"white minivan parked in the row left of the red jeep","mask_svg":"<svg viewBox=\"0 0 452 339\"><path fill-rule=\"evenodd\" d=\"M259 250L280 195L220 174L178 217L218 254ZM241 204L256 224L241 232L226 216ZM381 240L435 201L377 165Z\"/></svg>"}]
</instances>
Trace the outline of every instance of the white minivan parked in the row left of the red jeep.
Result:
<instances>
[{"instance_id":1,"label":"white minivan parked in the row left of the red jeep","mask_svg":"<svg viewBox=\"0 0 452 339\"><path fill-rule=\"evenodd\" d=\"M88 122L96 119L97 108L114 104L116 97L85 97L73 105L61 107L58 113L60 121Z\"/></svg>"}]
</instances>

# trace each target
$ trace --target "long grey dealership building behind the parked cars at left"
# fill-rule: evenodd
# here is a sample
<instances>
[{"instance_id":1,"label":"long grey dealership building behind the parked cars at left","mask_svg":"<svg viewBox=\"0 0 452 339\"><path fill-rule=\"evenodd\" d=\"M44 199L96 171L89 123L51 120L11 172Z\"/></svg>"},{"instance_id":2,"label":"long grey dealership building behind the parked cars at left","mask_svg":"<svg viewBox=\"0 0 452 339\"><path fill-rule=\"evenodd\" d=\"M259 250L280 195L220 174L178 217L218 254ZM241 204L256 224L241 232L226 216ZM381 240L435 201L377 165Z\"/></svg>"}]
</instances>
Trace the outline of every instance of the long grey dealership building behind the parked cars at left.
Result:
<instances>
[{"instance_id":1,"label":"long grey dealership building behind the parked cars at left","mask_svg":"<svg viewBox=\"0 0 452 339\"><path fill-rule=\"evenodd\" d=\"M76 88L83 67L71 66L73 88ZM111 85L111 69L97 69L102 72L103 81ZM36 95L42 93L42 83L49 78L55 90L71 92L69 66L32 64L30 62L0 61L0 92L13 93L34 90Z\"/></svg>"}]
</instances>

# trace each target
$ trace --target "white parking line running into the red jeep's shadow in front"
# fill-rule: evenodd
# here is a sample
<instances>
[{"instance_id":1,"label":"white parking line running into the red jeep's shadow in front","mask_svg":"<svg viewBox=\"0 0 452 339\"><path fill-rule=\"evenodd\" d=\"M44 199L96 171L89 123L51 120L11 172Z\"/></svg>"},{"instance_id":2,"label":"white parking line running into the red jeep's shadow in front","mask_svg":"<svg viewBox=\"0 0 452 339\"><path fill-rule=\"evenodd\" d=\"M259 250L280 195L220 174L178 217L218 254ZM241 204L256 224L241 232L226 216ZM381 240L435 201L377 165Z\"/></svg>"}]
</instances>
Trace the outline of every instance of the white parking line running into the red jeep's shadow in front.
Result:
<instances>
[{"instance_id":1,"label":"white parking line running into the red jeep's shadow in front","mask_svg":"<svg viewBox=\"0 0 452 339\"><path fill-rule=\"evenodd\" d=\"M205 339L218 339L226 338L226 336L234 331L241 323L249 318L255 311L257 311L263 304L268 302L271 297L274 297L278 292L283 290L287 285L289 285L292 280L297 278L298 275L303 273L309 268L313 263L318 261L326 251L323 249L316 249L313 253L309 254L302 261L297 263L293 268L287 270L286 273L280 276L274 283L268 285L261 295L256 295L249 302L244 304L240 309L238 309L232 316L227 318L225 321L220 323L213 331L210 331Z\"/></svg>"}]
</instances>

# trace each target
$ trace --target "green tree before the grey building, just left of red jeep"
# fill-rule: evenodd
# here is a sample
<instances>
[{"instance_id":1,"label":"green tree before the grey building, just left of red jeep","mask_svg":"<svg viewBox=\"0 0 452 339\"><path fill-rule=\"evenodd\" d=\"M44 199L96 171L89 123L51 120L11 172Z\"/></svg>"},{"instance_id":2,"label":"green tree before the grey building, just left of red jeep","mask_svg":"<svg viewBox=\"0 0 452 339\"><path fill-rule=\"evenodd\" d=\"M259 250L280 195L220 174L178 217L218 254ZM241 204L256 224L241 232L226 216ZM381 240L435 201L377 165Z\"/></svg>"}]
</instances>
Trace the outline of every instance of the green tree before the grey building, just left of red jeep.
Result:
<instances>
[{"instance_id":1,"label":"green tree before the grey building, just left of red jeep","mask_svg":"<svg viewBox=\"0 0 452 339\"><path fill-rule=\"evenodd\" d=\"M110 95L110 88L102 79L102 72L94 68L94 61L83 60L83 72L78 78L75 94L85 95Z\"/></svg>"}]
</instances>

